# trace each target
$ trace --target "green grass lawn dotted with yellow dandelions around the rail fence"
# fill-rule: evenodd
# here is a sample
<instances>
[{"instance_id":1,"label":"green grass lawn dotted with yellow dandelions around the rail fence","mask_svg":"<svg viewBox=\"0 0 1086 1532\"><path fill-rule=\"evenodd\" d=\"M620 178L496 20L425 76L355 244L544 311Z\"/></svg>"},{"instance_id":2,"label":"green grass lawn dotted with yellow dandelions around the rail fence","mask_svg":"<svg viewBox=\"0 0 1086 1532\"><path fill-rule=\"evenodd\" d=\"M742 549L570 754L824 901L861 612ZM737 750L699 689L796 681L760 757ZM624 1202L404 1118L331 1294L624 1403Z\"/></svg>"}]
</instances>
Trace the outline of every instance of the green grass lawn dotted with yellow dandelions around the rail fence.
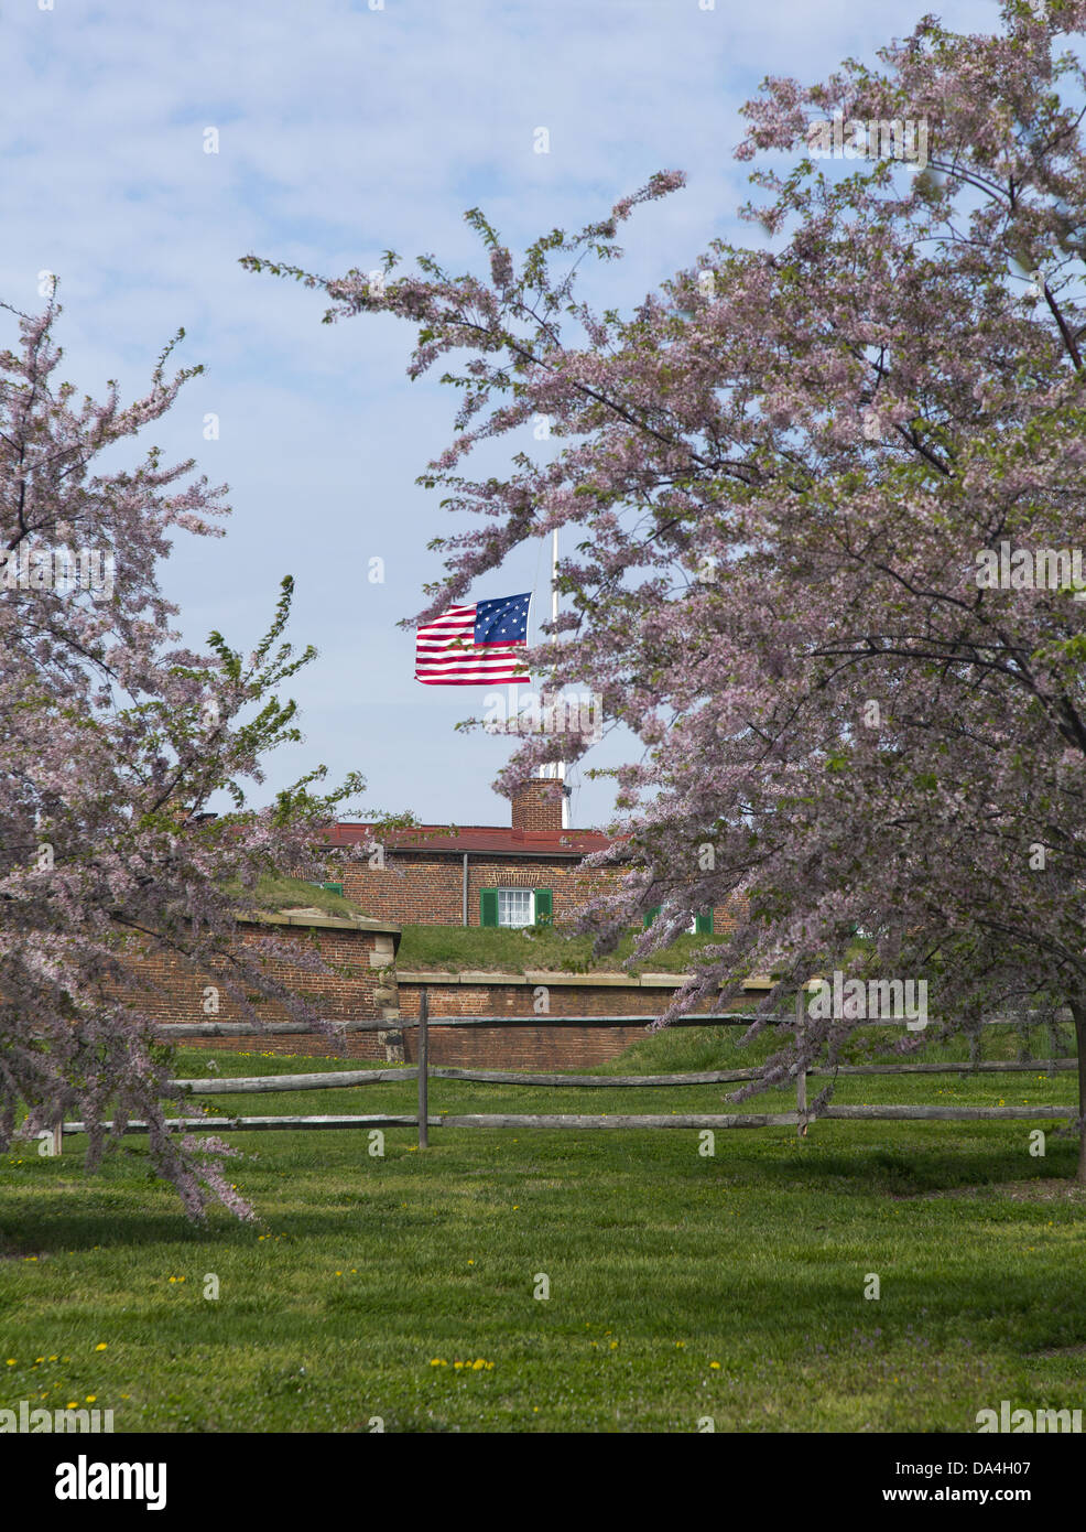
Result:
<instances>
[{"instance_id":1,"label":"green grass lawn dotted with yellow dandelions around the rail fence","mask_svg":"<svg viewBox=\"0 0 1086 1532\"><path fill-rule=\"evenodd\" d=\"M607 1069L743 1065L738 1036L665 1033ZM985 1042L1016 1054L1002 1030ZM184 1051L178 1072L208 1062L357 1068ZM1071 1106L1072 1082L850 1079L836 1098ZM729 1089L437 1080L430 1111L720 1112ZM216 1115L414 1102L414 1082L207 1098ZM689 1131L435 1128L418 1152L389 1129L383 1158L365 1132L239 1132L233 1178L260 1221L204 1229L141 1138L93 1178L83 1140L61 1160L28 1146L0 1160L0 1406L93 1400L118 1431L872 1432L971 1431L1002 1399L1083 1408L1086 1195L1068 1140L1029 1155L1032 1126L823 1121L803 1141L717 1132L712 1158Z\"/></svg>"}]
</instances>

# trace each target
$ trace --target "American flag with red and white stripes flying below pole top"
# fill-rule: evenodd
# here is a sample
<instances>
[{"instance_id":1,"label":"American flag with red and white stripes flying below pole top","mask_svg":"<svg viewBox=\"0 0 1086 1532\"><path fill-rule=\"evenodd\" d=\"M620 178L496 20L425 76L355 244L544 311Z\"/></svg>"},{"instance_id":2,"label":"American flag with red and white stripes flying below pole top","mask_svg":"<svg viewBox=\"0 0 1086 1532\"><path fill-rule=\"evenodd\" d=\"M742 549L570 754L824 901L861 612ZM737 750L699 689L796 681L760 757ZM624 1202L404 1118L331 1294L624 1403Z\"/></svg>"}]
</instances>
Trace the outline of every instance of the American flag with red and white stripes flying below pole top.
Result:
<instances>
[{"instance_id":1,"label":"American flag with red and white stripes flying below pole top","mask_svg":"<svg viewBox=\"0 0 1086 1532\"><path fill-rule=\"evenodd\" d=\"M424 686L487 686L532 680L521 648L528 637L532 593L450 607L418 630L415 680Z\"/></svg>"}]
</instances>

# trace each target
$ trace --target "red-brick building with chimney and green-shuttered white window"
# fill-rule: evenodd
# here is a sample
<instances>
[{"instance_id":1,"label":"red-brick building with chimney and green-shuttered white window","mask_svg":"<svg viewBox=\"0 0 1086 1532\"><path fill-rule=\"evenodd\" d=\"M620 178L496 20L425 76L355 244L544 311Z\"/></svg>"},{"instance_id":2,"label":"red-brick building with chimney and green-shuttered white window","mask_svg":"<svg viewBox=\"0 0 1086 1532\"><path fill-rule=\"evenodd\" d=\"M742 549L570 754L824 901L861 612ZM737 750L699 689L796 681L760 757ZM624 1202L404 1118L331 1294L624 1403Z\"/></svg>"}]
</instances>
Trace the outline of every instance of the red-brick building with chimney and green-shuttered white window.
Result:
<instances>
[{"instance_id":1,"label":"red-brick building with chimney and green-shuttered white window","mask_svg":"<svg viewBox=\"0 0 1086 1532\"><path fill-rule=\"evenodd\" d=\"M372 850L369 864L329 872L329 885L397 925L568 925L608 876L579 864L610 840L564 830L561 791L553 778L533 778L513 798L509 826L423 824L389 833L381 846L369 826L337 824L328 832L334 846ZM726 924L723 910L705 912L695 928Z\"/></svg>"}]
</instances>

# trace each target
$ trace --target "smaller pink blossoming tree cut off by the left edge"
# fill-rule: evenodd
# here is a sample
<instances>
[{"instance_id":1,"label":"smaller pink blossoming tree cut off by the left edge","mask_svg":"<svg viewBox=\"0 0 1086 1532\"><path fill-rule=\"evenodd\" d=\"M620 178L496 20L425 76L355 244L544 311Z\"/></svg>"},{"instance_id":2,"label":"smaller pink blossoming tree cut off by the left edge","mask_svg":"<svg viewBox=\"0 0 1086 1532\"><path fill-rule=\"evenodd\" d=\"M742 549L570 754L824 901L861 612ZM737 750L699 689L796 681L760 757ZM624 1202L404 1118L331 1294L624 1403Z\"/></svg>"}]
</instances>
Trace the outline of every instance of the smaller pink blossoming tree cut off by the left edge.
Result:
<instances>
[{"instance_id":1,"label":"smaller pink blossoming tree cut off by the left edge","mask_svg":"<svg viewBox=\"0 0 1086 1532\"><path fill-rule=\"evenodd\" d=\"M156 447L129 467L98 460L115 464L201 369L167 375L172 343L142 398L123 404L110 385L101 401L78 400L58 381L58 316L55 297L15 316L18 345L0 352L0 1149L78 1115L93 1167L126 1123L146 1120L153 1161L191 1216L208 1198L251 1215L224 1174L233 1151L167 1131L181 1102L139 958L167 954L193 984L207 976L253 1020L259 994L325 1026L273 977L285 948L242 950L236 922L256 910L263 873L325 876L319 827L361 781L322 795L319 768L250 807L263 757L300 738L279 697L312 657L282 642L291 581L251 656L218 633L207 654L178 645L158 565L175 530L222 535L225 489ZM208 813L222 792L233 809Z\"/></svg>"}]
</instances>

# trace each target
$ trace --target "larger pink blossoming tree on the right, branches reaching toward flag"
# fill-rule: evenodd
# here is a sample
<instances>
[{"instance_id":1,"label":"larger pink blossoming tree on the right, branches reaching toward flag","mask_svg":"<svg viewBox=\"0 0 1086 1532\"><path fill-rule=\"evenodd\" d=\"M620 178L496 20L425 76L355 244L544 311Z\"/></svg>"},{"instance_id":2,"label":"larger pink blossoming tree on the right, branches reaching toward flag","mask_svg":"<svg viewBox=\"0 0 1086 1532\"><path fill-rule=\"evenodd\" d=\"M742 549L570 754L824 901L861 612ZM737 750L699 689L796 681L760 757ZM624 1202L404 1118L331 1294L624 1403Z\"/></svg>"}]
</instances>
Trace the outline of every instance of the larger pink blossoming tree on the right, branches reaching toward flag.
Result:
<instances>
[{"instance_id":1,"label":"larger pink blossoming tree on the right, branches reaching toward flag","mask_svg":"<svg viewBox=\"0 0 1086 1532\"><path fill-rule=\"evenodd\" d=\"M875 66L767 80L737 149L751 244L625 316L574 271L679 173L519 262L473 210L482 274L245 259L323 288L328 322L414 322L411 375L449 369L423 483L467 530L417 620L567 529L562 642L532 663L640 745L585 924L607 950L662 905L643 956L741 901L665 1022L772 968L757 1034L847 970L930 984L939 1025L902 1048L1032 1003L1069 1007L1086 1060L1084 31L1081 0L1009 0L993 35L927 17ZM545 458L519 447L541 415ZM495 438L509 473L470 476ZM501 780L584 748L533 738ZM833 1063L856 1020L809 1005L752 1089Z\"/></svg>"}]
</instances>

